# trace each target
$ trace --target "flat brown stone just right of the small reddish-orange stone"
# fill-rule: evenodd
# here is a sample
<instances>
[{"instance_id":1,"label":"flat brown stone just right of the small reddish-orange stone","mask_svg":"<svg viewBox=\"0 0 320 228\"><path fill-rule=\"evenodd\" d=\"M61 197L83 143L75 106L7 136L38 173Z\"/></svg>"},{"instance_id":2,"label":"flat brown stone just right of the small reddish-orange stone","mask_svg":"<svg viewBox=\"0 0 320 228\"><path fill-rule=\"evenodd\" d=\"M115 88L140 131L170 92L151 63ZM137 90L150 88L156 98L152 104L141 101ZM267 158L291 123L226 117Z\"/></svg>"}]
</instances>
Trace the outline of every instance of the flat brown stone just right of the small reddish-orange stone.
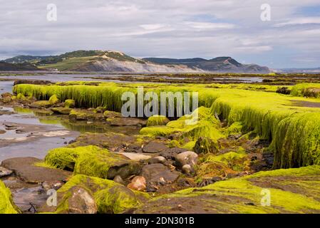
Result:
<instances>
[{"instance_id":1,"label":"flat brown stone just right of the small reddish-orange stone","mask_svg":"<svg viewBox=\"0 0 320 228\"><path fill-rule=\"evenodd\" d=\"M170 170L168 167L162 164L145 165L140 172L140 175L145 177L148 183L163 182L172 183L179 177L179 172Z\"/></svg>"}]
</instances>

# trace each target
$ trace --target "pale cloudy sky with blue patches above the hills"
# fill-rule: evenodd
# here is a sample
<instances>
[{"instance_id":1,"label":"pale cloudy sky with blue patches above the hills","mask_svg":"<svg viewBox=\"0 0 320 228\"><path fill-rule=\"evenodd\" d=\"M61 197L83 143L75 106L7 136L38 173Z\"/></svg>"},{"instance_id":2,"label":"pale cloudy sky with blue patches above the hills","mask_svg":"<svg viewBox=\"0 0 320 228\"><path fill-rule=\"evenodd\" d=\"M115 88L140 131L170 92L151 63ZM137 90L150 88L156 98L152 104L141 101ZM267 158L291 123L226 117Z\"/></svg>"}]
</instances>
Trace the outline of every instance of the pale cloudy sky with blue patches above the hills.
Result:
<instances>
[{"instance_id":1,"label":"pale cloudy sky with blue patches above the hills","mask_svg":"<svg viewBox=\"0 0 320 228\"><path fill-rule=\"evenodd\" d=\"M56 4L56 21L47 19L48 4ZM271 6L270 21L261 19L262 4ZM0 0L0 6L0 59L101 49L320 67L319 0Z\"/></svg>"}]
</instances>

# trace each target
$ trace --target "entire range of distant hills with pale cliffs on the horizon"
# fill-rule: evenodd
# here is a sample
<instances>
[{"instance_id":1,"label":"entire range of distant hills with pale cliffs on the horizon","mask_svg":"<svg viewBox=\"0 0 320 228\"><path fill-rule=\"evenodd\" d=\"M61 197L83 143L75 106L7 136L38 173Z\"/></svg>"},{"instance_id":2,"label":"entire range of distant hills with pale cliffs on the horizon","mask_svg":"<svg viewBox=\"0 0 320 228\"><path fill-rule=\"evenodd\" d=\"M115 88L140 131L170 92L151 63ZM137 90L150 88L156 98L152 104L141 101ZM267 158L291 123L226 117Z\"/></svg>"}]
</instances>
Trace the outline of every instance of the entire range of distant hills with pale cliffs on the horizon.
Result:
<instances>
[{"instance_id":1,"label":"entire range of distant hills with pale cliffs on the horizon","mask_svg":"<svg viewBox=\"0 0 320 228\"><path fill-rule=\"evenodd\" d=\"M269 68L244 65L230 57L134 58L120 51L72 51L58 56L16 56L6 63L34 63L38 68L58 71L108 71L140 73L230 72L267 73Z\"/></svg>"}]
</instances>

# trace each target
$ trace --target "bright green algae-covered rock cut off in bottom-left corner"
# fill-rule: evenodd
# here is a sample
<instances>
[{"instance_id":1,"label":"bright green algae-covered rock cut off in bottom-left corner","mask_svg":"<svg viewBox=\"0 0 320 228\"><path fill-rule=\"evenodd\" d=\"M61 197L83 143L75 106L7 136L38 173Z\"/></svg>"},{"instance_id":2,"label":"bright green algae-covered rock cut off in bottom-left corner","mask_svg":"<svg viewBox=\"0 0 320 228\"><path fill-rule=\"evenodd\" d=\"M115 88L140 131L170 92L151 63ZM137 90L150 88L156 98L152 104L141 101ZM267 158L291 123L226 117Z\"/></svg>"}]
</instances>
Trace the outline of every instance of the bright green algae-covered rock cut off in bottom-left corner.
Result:
<instances>
[{"instance_id":1,"label":"bright green algae-covered rock cut off in bottom-left corner","mask_svg":"<svg viewBox=\"0 0 320 228\"><path fill-rule=\"evenodd\" d=\"M14 205L11 192L0 180L0 214L18 214L19 209Z\"/></svg>"}]
</instances>

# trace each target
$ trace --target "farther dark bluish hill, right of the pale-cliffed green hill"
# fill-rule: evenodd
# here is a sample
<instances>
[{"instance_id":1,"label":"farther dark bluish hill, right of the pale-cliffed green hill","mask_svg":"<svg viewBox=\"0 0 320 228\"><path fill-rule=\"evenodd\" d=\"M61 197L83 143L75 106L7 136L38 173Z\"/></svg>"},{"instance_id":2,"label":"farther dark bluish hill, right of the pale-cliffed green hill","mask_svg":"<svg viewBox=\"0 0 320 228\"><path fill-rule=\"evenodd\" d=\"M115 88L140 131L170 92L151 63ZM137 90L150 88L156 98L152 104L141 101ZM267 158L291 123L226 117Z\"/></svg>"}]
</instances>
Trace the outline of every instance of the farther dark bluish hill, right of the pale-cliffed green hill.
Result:
<instances>
[{"instance_id":1,"label":"farther dark bluish hill, right of the pale-cliffed green hill","mask_svg":"<svg viewBox=\"0 0 320 228\"><path fill-rule=\"evenodd\" d=\"M217 57L210 60L204 58L143 58L145 61L158 64L183 64L189 68L202 71L232 73L269 73L269 68L257 64L242 64L231 57Z\"/></svg>"}]
</instances>

